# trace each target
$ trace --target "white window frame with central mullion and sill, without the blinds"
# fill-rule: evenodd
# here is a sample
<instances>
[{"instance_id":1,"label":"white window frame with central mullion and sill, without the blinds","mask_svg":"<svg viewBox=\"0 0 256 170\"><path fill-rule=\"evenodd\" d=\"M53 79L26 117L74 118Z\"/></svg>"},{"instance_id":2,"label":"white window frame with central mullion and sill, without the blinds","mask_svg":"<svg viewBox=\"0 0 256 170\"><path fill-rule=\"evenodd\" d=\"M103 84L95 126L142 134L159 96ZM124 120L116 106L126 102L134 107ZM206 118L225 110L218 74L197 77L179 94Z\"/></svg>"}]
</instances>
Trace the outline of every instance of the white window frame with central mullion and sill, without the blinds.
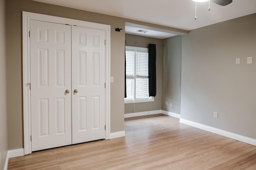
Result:
<instances>
[{"instance_id":1,"label":"white window frame with central mullion and sill, without the blinds","mask_svg":"<svg viewBox=\"0 0 256 170\"><path fill-rule=\"evenodd\" d=\"M149 98L138 98L136 99L136 52L148 52L148 48L145 48L145 47L133 47L133 46L125 46L125 53L126 51L134 51L134 77L133 78L127 78L126 77L126 82L127 82L127 79L131 79L133 80L133 85L132 85L132 96L133 98L132 99L126 99L124 98L124 103L125 104L129 104L129 103L141 103L141 102L154 102L154 96L150 96ZM140 76L138 77L140 78Z\"/></svg>"}]
</instances>

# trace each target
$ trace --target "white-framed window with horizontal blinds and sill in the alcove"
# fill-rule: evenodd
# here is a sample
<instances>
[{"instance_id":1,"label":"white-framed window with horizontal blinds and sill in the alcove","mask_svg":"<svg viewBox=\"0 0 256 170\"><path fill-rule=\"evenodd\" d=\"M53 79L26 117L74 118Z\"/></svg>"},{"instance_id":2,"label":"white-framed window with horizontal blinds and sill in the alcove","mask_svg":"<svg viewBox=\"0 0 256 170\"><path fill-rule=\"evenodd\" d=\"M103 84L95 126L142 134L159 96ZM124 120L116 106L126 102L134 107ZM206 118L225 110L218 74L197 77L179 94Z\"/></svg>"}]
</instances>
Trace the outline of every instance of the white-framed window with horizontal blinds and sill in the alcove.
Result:
<instances>
[{"instance_id":1,"label":"white-framed window with horizontal blinds and sill in the alcove","mask_svg":"<svg viewBox=\"0 0 256 170\"><path fill-rule=\"evenodd\" d=\"M126 94L125 103L153 102L148 94L148 48L125 47Z\"/></svg>"}]
</instances>

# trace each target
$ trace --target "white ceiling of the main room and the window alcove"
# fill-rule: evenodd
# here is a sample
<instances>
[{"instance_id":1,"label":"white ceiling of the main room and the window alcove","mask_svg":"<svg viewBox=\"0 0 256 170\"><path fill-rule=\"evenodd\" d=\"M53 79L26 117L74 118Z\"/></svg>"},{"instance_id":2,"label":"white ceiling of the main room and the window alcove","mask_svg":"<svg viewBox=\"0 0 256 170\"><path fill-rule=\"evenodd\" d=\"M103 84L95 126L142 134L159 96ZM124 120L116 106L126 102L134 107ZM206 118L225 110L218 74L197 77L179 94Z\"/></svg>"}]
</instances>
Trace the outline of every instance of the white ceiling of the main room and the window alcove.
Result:
<instances>
[{"instance_id":1,"label":"white ceiling of the main room and the window alcove","mask_svg":"<svg viewBox=\"0 0 256 170\"><path fill-rule=\"evenodd\" d=\"M76 8L110 16L117 16L131 20L144 21L174 27L184 30L192 30L214 23L231 20L241 16L256 13L256 0L233 0L227 6L220 6L210 2L198 2L195 20L196 2L192 0L35 0L48 4ZM126 33L143 35L147 37L166 38L168 31L156 31L152 35L148 29L146 33L138 33L143 25L136 27L126 25ZM163 32L163 34L161 33ZM160 35L161 34L161 35ZM165 35L166 34L166 35Z\"/></svg>"}]
</instances>

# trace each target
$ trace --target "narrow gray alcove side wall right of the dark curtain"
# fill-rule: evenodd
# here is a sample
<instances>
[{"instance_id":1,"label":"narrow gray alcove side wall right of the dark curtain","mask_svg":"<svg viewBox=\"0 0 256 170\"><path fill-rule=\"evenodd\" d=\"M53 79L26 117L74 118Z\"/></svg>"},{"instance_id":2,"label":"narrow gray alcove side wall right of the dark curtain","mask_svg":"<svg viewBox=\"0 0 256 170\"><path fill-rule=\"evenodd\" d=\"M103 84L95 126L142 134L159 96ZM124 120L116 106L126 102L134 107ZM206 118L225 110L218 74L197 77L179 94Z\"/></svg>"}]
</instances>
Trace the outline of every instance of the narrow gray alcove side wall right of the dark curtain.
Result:
<instances>
[{"instance_id":1,"label":"narrow gray alcove side wall right of the dark curtain","mask_svg":"<svg viewBox=\"0 0 256 170\"><path fill-rule=\"evenodd\" d=\"M162 110L180 114L182 36L164 39ZM172 103L172 107L170 107Z\"/></svg>"}]
</instances>

